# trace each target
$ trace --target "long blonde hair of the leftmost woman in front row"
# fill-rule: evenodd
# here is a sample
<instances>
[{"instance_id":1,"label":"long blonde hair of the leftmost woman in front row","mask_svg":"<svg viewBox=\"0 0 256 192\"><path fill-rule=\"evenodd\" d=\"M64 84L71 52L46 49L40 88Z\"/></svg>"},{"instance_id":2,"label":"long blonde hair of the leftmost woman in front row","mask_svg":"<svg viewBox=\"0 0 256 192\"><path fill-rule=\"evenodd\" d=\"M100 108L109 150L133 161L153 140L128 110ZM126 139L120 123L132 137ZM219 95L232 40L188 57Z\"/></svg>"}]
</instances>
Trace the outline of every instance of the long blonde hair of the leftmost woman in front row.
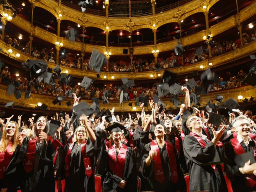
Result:
<instances>
[{"instance_id":1,"label":"long blonde hair of the leftmost woman in front row","mask_svg":"<svg viewBox=\"0 0 256 192\"><path fill-rule=\"evenodd\" d=\"M2 138L1 138L1 141L0 141L0 152L4 152L6 150L8 144L9 144L9 140L6 137L6 127L10 123L14 123L15 124L15 132L14 132L14 135L12 136L12 138L10 140L12 142L12 147L11 147L11 151L10 152L14 152L15 151L16 145L18 143L18 138L17 138L17 135L19 133L18 124L15 121L10 121L8 124L5 125L5 128L4 128L4 132L3 132L3 135L2 135Z\"/></svg>"}]
</instances>

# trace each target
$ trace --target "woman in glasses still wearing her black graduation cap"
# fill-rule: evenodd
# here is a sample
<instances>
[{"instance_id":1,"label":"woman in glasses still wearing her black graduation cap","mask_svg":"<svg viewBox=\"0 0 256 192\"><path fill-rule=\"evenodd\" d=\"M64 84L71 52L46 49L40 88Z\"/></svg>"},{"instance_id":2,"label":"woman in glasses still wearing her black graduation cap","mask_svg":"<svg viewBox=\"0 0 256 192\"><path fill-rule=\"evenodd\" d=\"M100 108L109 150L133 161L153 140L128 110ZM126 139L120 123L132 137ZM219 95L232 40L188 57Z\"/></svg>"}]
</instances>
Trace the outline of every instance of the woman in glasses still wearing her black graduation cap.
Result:
<instances>
[{"instance_id":1,"label":"woman in glasses still wearing her black graduation cap","mask_svg":"<svg viewBox=\"0 0 256 192\"><path fill-rule=\"evenodd\" d=\"M106 128L114 144L102 156L104 160L101 162L105 165L105 173L101 177L103 192L137 191L135 153L122 143L125 138L122 130L125 128L119 123Z\"/></svg>"}]
</instances>

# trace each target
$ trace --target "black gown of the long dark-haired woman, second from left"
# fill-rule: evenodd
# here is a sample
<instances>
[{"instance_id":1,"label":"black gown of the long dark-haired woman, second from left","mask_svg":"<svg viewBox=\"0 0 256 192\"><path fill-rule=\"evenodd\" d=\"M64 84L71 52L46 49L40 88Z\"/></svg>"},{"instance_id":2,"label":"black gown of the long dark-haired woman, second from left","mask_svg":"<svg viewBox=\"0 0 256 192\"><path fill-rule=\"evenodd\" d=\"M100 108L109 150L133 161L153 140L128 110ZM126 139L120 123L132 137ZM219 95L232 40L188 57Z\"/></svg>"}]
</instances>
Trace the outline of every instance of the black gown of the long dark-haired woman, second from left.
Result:
<instances>
[{"instance_id":1,"label":"black gown of the long dark-haired woman, second from left","mask_svg":"<svg viewBox=\"0 0 256 192\"><path fill-rule=\"evenodd\" d=\"M21 146L17 147L15 152L14 162L17 164L24 164L26 159L26 153L29 143L28 137L26 137ZM21 189L22 192L54 192L54 169L53 169L53 157L56 153L55 148L50 140L36 142L36 149L34 154L33 169L26 172L21 170L20 179L22 180Z\"/></svg>"}]
</instances>

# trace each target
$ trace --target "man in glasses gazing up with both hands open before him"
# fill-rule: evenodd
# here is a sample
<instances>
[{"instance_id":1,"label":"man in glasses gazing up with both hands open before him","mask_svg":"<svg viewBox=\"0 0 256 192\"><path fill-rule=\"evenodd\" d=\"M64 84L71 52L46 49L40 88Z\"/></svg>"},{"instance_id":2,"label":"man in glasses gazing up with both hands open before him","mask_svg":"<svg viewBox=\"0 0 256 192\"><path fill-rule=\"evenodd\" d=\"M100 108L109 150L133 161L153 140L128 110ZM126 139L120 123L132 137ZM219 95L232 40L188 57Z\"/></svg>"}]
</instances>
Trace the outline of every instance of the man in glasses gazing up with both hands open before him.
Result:
<instances>
[{"instance_id":1,"label":"man in glasses gazing up with both hands open before him","mask_svg":"<svg viewBox=\"0 0 256 192\"><path fill-rule=\"evenodd\" d=\"M202 134L203 123L200 117L188 116L186 126L191 131L183 140L184 156L189 171L189 192L227 191L226 182L221 170L221 163L216 145L223 135L225 127L219 131L213 128L213 139L209 141Z\"/></svg>"}]
</instances>

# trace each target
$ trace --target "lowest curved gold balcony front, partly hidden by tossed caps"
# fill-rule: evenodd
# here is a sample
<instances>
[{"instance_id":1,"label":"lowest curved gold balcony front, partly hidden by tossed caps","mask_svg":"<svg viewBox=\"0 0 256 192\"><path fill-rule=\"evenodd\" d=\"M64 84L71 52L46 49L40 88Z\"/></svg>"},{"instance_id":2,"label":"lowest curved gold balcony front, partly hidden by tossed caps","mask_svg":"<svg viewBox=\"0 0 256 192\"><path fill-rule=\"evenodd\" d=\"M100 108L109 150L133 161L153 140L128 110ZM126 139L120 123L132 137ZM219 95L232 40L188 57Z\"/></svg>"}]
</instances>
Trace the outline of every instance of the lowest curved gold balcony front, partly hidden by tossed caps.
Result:
<instances>
[{"instance_id":1,"label":"lowest curved gold balcony front, partly hidden by tossed caps","mask_svg":"<svg viewBox=\"0 0 256 192\"><path fill-rule=\"evenodd\" d=\"M47 96L47 95L31 93L30 98L24 100L24 94L21 94L22 95L21 98L16 99L14 94L9 96L6 93L6 90L7 90L7 86L0 84L0 91L2 93L1 98L0 98L0 103L2 103L2 104L5 104L10 101L14 101L14 103L13 103L14 106L35 109L35 107L37 106L37 103L41 102L48 106L47 110L59 111L59 109L61 107L62 111L69 111L70 113L72 112L70 109L71 107L68 107L66 105L66 102L68 102L68 101L72 102L72 99L70 99L70 98L65 99L63 102L61 102L61 105L59 106L58 104L53 105L52 101L54 99L56 99L55 96ZM216 94L224 96L223 102L231 97L234 99L237 99L237 96L239 96L239 95L242 95L244 98L250 98L251 96L256 97L256 87L252 87L252 86L248 85L248 86L227 89L227 90L223 90L223 91L218 91L218 92L201 95L201 97L200 97L201 107L205 106L209 99L210 99L211 103L216 103L217 101L214 100ZM183 100L183 99L185 99L184 96L179 97L179 100ZM170 102L169 100L170 100L170 98L163 99L163 102L166 104L166 109L169 109L171 107L175 108L173 106L173 103ZM88 104L92 103L92 100L85 100L85 101ZM100 110L107 110L107 109L111 109L112 107L115 107L115 111L125 111L125 112L140 111L140 108L138 106L136 106L136 110L133 110L131 107L128 106L128 103L134 103L134 102L135 102L135 100L126 101L126 102L123 102L121 105L119 105L119 100L109 100L109 104L100 103ZM242 100L238 100L238 102L242 102ZM134 104L133 104L133 106L134 106ZM150 111L150 110L151 110L150 106L145 107L145 111Z\"/></svg>"}]
</instances>

